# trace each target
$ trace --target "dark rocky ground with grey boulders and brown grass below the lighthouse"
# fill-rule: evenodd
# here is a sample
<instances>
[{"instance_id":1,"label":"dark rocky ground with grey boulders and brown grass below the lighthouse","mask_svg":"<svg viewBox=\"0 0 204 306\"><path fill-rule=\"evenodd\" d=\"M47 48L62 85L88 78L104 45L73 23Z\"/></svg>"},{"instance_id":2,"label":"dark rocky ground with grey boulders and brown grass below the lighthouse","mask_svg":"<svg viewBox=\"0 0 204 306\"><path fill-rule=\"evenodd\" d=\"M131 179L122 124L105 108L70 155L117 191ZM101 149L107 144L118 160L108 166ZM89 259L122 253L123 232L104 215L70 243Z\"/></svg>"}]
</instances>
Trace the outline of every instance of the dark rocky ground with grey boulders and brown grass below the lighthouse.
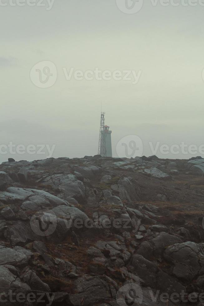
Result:
<instances>
[{"instance_id":1,"label":"dark rocky ground with grey boulders and brown grass below the lighthouse","mask_svg":"<svg viewBox=\"0 0 204 306\"><path fill-rule=\"evenodd\" d=\"M55 306L173 306L204 293L202 163L100 155L3 163L0 293L44 293Z\"/></svg>"}]
</instances>

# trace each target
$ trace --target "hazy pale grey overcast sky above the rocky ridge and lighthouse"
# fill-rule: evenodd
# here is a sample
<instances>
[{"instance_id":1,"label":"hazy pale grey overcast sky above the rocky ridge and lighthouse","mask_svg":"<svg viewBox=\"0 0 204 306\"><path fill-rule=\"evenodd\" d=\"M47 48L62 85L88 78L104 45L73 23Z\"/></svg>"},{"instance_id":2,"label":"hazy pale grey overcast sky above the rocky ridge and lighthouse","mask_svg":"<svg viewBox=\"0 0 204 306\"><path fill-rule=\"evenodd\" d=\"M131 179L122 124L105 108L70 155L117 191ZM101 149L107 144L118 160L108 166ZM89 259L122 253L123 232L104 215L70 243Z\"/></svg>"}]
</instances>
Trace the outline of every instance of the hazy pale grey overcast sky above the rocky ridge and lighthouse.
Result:
<instances>
[{"instance_id":1,"label":"hazy pale grey overcast sky above the rocky ridge and lighthouse","mask_svg":"<svg viewBox=\"0 0 204 306\"><path fill-rule=\"evenodd\" d=\"M120 139L136 135L143 155L153 155L152 142L154 147L159 143L159 157L204 157L160 150L165 144L204 144L200 2L192 6L190 0L174 0L178 6L163 6L145 0L138 12L130 13L125 0L43 0L45 6L21 0L24 6L11 5L16 1L0 1L0 162L49 155L46 149L46 154L12 155L9 142L26 148L55 145L53 157L97 154L101 100L112 130L113 156L122 154L116 152ZM133 9L142 3L128 1ZM45 61L50 70L35 66ZM110 80L97 80L95 69L108 70ZM93 80L78 80L77 70L91 71ZM130 80L124 79L124 71L131 72Z\"/></svg>"}]
</instances>

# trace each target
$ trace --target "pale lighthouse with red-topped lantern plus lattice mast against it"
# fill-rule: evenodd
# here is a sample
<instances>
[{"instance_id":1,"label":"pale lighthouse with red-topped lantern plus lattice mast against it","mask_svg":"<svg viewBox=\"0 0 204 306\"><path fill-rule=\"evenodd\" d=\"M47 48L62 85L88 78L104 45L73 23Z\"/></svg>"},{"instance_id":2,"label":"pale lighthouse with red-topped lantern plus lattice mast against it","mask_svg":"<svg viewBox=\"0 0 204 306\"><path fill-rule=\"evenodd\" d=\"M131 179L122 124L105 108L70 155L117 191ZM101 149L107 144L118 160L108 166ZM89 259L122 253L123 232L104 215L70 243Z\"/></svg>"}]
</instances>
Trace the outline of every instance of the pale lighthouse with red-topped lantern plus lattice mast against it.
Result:
<instances>
[{"instance_id":1,"label":"pale lighthouse with red-topped lantern plus lattice mast against it","mask_svg":"<svg viewBox=\"0 0 204 306\"><path fill-rule=\"evenodd\" d=\"M109 126L104 125L105 113L101 113L98 154L102 157L112 157L111 133Z\"/></svg>"}]
</instances>

